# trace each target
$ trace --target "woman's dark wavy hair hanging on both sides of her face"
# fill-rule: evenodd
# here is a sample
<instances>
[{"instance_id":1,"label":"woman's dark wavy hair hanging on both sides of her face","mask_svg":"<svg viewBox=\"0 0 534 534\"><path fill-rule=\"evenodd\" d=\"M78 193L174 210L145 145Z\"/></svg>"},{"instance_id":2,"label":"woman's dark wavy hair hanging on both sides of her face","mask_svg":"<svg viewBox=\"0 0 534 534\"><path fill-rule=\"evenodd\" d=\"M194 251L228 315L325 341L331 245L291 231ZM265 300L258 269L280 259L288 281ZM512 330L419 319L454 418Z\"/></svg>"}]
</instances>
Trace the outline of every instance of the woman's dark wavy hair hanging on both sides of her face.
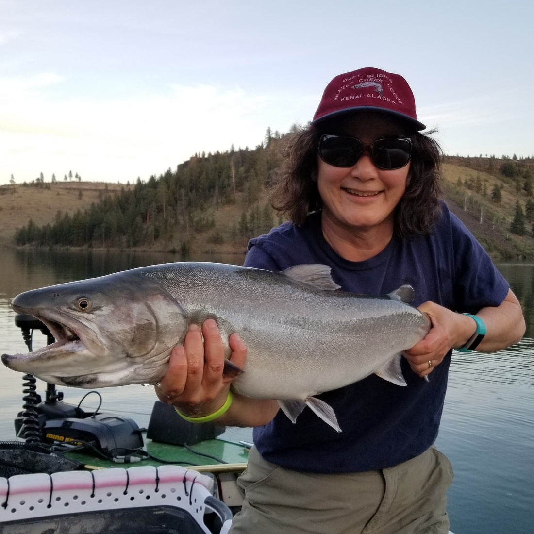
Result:
<instances>
[{"instance_id":1,"label":"woman's dark wavy hair hanging on both sides of her face","mask_svg":"<svg viewBox=\"0 0 534 534\"><path fill-rule=\"evenodd\" d=\"M412 159L406 191L395 208L395 232L399 237L431 233L439 214L443 152L430 134L413 132ZM308 127L287 137L282 148L285 160L275 178L269 200L279 213L302 226L313 211L323 206L317 188L317 146L325 133Z\"/></svg>"}]
</instances>

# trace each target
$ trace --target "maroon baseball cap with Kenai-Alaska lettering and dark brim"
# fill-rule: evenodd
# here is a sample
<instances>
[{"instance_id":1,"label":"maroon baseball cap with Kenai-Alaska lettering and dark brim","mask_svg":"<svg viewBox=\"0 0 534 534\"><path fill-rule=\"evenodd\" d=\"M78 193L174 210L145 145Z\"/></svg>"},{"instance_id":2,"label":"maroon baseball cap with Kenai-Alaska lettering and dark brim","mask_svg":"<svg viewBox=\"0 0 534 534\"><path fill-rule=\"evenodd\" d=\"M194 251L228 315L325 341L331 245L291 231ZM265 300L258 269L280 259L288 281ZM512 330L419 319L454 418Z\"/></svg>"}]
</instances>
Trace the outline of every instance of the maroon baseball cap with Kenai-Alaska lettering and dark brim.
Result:
<instances>
[{"instance_id":1,"label":"maroon baseball cap with Kenai-Alaska lettering and dark brim","mask_svg":"<svg viewBox=\"0 0 534 534\"><path fill-rule=\"evenodd\" d=\"M406 80L373 67L336 76L326 86L311 124L364 109L394 114L415 130L426 128L417 120L415 99Z\"/></svg>"}]
</instances>

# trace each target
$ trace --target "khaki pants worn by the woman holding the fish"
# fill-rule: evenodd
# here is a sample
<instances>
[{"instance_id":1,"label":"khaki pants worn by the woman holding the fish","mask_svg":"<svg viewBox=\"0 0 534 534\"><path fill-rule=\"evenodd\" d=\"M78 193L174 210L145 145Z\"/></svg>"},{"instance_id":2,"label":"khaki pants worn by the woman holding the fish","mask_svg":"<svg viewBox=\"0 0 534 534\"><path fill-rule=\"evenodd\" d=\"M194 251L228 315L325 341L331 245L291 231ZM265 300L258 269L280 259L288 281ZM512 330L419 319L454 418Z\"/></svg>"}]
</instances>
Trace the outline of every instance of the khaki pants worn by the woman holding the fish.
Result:
<instances>
[{"instance_id":1,"label":"khaki pants worn by the woman holding the fish","mask_svg":"<svg viewBox=\"0 0 534 534\"><path fill-rule=\"evenodd\" d=\"M232 534L447 534L452 467L435 447L395 467L364 473L296 472L252 449Z\"/></svg>"}]
</instances>

